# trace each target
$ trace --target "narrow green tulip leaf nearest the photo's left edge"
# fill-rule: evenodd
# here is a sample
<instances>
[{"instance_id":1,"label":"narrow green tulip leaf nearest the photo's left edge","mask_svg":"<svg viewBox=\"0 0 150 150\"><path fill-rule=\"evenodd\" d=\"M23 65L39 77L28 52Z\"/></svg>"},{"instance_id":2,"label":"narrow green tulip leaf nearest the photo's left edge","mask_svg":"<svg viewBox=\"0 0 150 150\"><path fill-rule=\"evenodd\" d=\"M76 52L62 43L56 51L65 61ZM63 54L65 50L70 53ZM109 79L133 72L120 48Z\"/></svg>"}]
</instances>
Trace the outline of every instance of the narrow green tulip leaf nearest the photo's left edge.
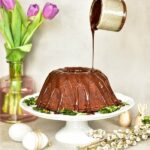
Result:
<instances>
[{"instance_id":1,"label":"narrow green tulip leaf nearest the photo's left edge","mask_svg":"<svg viewBox=\"0 0 150 150\"><path fill-rule=\"evenodd\" d=\"M10 19L9 19L9 13L3 9L3 19L4 19L4 36L5 36L5 40L7 45L9 46L9 48L13 48L14 47L14 43L13 43L13 37L12 37L12 33L11 33L11 28L10 28Z\"/></svg>"}]
</instances>

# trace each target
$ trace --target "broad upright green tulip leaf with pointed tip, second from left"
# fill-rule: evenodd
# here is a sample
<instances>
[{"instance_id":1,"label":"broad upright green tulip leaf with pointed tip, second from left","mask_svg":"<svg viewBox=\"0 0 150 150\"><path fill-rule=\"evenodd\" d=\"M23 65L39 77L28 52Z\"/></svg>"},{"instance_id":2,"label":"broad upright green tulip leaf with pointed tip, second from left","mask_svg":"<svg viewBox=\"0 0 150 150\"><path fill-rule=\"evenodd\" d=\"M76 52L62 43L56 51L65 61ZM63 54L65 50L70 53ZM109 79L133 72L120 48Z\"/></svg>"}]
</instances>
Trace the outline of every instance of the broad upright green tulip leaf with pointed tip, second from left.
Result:
<instances>
[{"instance_id":1,"label":"broad upright green tulip leaf with pointed tip, second from left","mask_svg":"<svg viewBox=\"0 0 150 150\"><path fill-rule=\"evenodd\" d=\"M21 17L17 7L12 11L11 30L14 39L14 46L17 47L21 43Z\"/></svg>"}]
</instances>

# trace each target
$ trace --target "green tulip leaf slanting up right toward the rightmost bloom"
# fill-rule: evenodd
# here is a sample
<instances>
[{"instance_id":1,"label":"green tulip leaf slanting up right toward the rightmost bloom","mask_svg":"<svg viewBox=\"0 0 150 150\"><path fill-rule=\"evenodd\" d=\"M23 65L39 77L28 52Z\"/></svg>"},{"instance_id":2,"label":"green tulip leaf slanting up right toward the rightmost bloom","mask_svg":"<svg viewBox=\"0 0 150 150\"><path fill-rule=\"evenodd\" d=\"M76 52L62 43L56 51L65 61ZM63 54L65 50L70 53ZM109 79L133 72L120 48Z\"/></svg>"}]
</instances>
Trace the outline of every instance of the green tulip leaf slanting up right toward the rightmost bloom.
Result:
<instances>
[{"instance_id":1,"label":"green tulip leaf slanting up right toward the rightmost bloom","mask_svg":"<svg viewBox=\"0 0 150 150\"><path fill-rule=\"evenodd\" d=\"M34 20L28 25L27 31L22 39L22 45L30 42L34 32L39 28L39 26L43 23L42 13L39 12L38 15L34 18Z\"/></svg>"}]
</instances>

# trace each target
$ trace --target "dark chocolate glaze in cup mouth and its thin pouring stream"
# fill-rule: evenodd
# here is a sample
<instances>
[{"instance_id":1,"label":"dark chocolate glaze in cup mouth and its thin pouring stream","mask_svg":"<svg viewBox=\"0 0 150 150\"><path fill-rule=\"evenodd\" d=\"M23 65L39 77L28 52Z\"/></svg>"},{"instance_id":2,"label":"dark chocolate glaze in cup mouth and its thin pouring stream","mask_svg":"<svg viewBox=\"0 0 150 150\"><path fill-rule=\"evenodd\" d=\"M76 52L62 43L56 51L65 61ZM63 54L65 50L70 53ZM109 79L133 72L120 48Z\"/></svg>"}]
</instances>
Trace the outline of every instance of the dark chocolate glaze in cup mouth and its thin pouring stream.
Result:
<instances>
[{"instance_id":1,"label":"dark chocolate glaze in cup mouth and its thin pouring stream","mask_svg":"<svg viewBox=\"0 0 150 150\"><path fill-rule=\"evenodd\" d=\"M94 37L95 30L97 30L97 25L100 19L101 14L101 0L93 0L91 12L90 12L90 24L91 24L91 32L92 32L92 70L94 69Z\"/></svg>"}]
</instances>

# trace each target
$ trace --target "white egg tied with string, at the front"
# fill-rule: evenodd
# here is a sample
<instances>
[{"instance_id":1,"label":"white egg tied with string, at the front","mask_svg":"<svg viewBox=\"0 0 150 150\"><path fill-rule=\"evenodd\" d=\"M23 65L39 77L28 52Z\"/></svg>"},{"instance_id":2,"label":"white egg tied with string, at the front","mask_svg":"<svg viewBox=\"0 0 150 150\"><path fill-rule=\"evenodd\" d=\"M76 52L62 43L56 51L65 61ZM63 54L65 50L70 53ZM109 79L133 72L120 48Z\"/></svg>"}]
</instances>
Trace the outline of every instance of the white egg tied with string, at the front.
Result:
<instances>
[{"instance_id":1,"label":"white egg tied with string, at the front","mask_svg":"<svg viewBox=\"0 0 150 150\"><path fill-rule=\"evenodd\" d=\"M22 144L27 150L43 149L48 145L48 138L41 132L29 132L23 138Z\"/></svg>"}]
</instances>

